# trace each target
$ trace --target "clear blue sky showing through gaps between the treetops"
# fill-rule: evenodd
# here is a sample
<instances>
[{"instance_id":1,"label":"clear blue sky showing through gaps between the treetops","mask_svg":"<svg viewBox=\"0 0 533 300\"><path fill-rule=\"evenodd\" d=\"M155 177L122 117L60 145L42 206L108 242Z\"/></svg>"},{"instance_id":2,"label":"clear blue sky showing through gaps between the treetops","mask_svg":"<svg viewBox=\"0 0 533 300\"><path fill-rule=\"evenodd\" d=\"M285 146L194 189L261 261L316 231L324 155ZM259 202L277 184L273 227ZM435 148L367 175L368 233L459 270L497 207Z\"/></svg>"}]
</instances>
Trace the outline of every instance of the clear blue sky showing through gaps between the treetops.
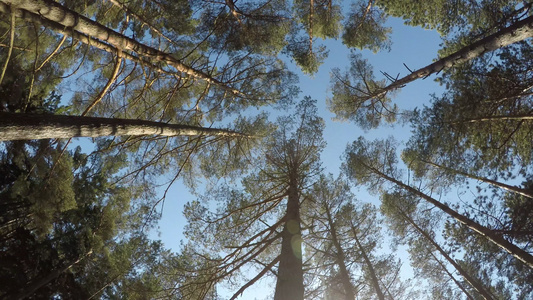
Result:
<instances>
[{"instance_id":1,"label":"clear blue sky showing through gaps between the treetops","mask_svg":"<svg viewBox=\"0 0 533 300\"><path fill-rule=\"evenodd\" d=\"M388 26L392 27L392 46L390 51L384 51L377 54L371 51L362 51L364 58L374 66L376 78L381 78L379 71L387 72L391 75L400 73L406 75L408 70L404 63L412 70L424 67L430 64L436 57L439 45L441 43L439 35L433 30L424 30L417 27L403 25L403 21L391 18ZM327 147L322 153L322 162L325 172L338 174L341 165L340 156L344 152L346 145L359 136L364 136L368 140L386 138L394 136L398 140L406 140L410 135L409 127L396 125L382 126L375 130L363 131L353 123L333 121L334 115L326 107L326 99L331 97L330 71L332 68L340 68L341 71L349 66L350 51L342 45L340 40L329 40L326 42L329 49L329 57L320 67L319 71L313 76L307 76L297 71L294 65L291 68L300 77L300 98L311 96L318 101L319 112L326 121L324 138L327 141ZM418 80L407 85L395 97L394 102L400 109L413 109L423 104L429 104L430 94L439 94L442 92L436 82L435 76L425 80ZM364 189L354 189L356 196L364 202L378 204L378 199L368 195ZM183 227L185 220L182 215L183 205L189 201L195 200L196 197L191 195L181 182L176 182L165 200L162 219L159 223L160 236L166 247L179 250L180 240L183 238ZM403 259L407 264L407 259ZM265 297L265 291L257 285L252 286L240 299L258 299Z\"/></svg>"}]
</instances>

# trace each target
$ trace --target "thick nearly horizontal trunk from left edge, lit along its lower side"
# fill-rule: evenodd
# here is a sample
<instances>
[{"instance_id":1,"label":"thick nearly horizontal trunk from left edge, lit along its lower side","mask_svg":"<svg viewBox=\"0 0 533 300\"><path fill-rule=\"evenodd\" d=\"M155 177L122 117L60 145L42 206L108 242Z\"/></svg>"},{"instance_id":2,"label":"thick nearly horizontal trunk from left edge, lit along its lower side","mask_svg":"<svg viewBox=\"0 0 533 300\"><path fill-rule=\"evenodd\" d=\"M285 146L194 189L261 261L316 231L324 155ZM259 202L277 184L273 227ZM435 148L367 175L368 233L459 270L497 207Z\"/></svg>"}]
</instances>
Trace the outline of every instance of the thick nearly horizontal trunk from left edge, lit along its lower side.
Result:
<instances>
[{"instance_id":1,"label":"thick nearly horizontal trunk from left edge, lit along its lower side","mask_svg":"<svg viewBox=\"0 0 533 300\"><path fill-rule=\"evenodd\" d=\"M0 112L0 141L152 134L243 136L224 129L144 120Z\"/></svg>"}]
</instances>

